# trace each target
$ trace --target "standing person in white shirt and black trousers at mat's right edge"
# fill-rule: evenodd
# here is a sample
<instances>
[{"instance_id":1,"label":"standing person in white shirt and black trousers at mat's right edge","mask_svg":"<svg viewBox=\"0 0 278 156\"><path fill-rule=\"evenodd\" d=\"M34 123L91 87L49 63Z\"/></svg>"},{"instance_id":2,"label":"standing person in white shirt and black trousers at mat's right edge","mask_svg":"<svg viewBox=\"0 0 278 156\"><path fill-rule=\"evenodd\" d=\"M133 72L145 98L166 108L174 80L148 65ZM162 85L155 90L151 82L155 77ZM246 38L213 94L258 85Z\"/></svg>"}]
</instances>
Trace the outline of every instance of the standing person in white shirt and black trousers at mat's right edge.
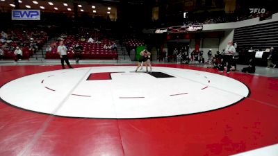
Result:
<instances>
[{"instance_id":1,"label":"standing person in white shirt and black trousers at mat's right edge","mask_svg":"<svg viewBox=\"0 0 278 156\"><path fill-rule=\"evenodd\" d=\"M235 47L233 46L233 42L230 40L228 42L228 45L224 51L224 56L223 56L223 61L221 63L221 66L220 66L220 71L219 72L223 72L224 71L224 66L227 65L227 73L230 72L230 69L231 69L231 61L233 60L233 55L236 54L236 49Z\"/></svg>"}]
</instances>

